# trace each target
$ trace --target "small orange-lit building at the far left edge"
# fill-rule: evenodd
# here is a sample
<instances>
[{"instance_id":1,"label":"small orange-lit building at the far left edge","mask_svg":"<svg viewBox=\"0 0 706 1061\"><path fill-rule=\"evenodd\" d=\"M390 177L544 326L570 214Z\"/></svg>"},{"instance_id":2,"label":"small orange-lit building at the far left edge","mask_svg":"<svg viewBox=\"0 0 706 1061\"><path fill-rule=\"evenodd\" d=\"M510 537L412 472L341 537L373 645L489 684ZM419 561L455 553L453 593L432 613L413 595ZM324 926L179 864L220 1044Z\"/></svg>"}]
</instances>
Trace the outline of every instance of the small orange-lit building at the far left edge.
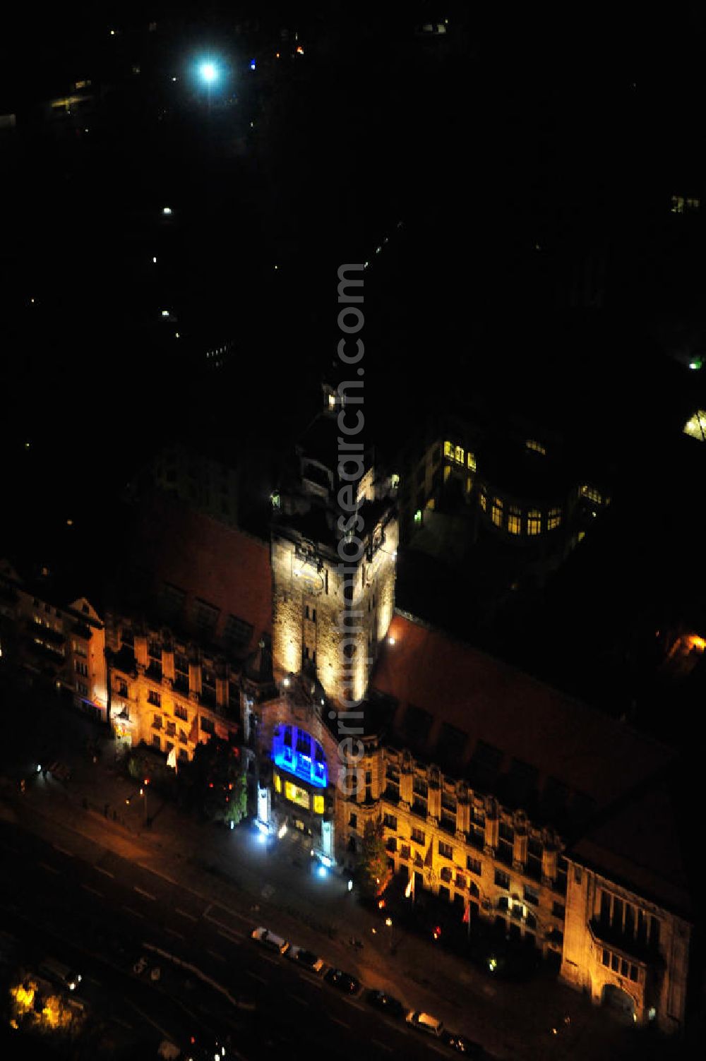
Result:
<instances>
[{"instance_id":1,"label":"small orange-lit building at the far left edge","mask_svg":"<svg viewBox=\"0 0 706 1061\"><path fill-rule=\"evenodd\" d=\"M106 721L104 623L86 597L66 599L48 568L25 580L0 560L0 653Z\"/></svg>"}]
</instances>

